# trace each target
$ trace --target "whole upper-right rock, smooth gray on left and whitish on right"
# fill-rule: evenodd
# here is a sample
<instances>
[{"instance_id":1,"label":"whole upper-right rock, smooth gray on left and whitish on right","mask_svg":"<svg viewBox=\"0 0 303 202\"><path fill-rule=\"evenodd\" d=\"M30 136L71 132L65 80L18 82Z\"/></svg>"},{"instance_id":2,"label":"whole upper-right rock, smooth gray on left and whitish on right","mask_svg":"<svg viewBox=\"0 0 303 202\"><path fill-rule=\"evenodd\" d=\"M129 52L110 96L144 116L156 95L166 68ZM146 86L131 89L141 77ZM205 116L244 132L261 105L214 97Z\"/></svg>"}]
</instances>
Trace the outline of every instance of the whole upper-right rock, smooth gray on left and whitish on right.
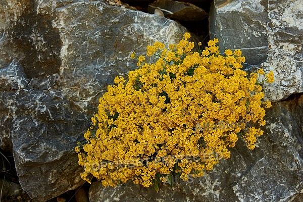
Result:
<instances>
[{"instance_id":1,"label":"whole upper-right rock, smooth gray on left and whitish on right","mask_svg":"<svg viewBox=\"0 0 303 202\"><path fill-rule=\"evenodd\" d=\"M210 36L221 51L241 49L247 66L273 71L275 82L266 96L281 100L303 92L303 4L301 0L215 0Z\"/></svg>"}]
</instances>

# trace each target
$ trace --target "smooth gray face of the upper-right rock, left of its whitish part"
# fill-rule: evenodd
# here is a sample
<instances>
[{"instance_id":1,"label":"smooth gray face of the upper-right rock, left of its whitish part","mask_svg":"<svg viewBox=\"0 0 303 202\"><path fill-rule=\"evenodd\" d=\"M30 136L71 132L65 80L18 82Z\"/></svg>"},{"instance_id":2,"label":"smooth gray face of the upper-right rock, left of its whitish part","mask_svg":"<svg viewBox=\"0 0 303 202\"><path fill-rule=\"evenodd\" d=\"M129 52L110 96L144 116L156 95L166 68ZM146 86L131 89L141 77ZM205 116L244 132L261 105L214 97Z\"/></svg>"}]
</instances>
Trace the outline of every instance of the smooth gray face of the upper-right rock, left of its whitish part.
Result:
<instances>
[{"instance_id":1,"label":"smooth gray face of the upper-right rock, left of its whitish part","mask_svg":"<svg viewBox=\"0 0 303 202\"><path fill-rule=\"evenodd\" d=\"M264 3L265 4L265 3ZM210 36L218 38L220 51L241 49L246 63L267 59L267 9L261 1L215 1L210 11Z\"/></svg>"}]
</instances>

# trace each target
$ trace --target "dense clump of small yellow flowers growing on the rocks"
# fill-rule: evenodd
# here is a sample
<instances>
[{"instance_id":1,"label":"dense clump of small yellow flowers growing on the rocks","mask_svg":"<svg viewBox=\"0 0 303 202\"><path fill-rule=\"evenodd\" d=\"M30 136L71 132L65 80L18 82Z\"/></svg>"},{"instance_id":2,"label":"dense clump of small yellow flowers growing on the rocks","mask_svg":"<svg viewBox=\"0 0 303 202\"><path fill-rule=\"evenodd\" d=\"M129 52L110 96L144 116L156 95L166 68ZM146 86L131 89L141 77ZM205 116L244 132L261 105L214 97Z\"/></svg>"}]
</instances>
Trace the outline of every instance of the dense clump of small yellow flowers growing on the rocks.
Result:
<instances>
[{"instance_id":1,"label":"dense clump of small yellow flowers growing on the rocks","mask_svg":"<svg viewBox=\"0 0 303 202\"><path fill-rule=\"evenodd\" d=\"M263 134L259 128L201 131L196 125L220 121L265 125L265 108L271 104L263 102L258 83L264 71L248 75L241 70L245 61L241 51L228 49L220 55L218 39L193 52L189 38L185 33L168 49L161 42L147 46L146 55L159 60L149 64L144 56L137 57L139 68L128 73L127 82L118 76L108 86L84 134L87 142L76 147L85 168L83 179L93 176L105 186L132 180L148 187L166 176L203 176L220 159L230 157L228 148L238 138L254 149L256 137ZM273 82L273 73L266 79Z\"/></svg>"}]
</instances>

